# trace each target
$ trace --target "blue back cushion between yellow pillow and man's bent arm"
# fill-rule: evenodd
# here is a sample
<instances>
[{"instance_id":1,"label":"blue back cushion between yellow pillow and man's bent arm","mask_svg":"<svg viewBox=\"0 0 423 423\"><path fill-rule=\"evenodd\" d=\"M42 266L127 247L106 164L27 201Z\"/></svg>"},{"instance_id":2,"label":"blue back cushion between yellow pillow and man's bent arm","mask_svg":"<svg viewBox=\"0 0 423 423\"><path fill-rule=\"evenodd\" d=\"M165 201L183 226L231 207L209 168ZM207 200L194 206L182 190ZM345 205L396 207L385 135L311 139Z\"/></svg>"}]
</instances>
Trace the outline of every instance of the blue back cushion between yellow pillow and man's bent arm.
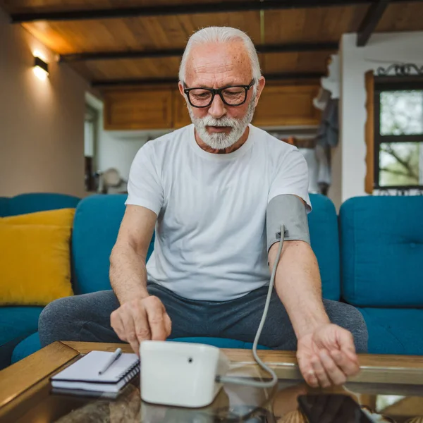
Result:
<instances>
[{"instance_id":1,"label":"blue back cushion between yellow pillow and man's bent arm","mask_svg":"<svg viewBox=\"0 0 423 423\"><path fill-rule=\"evenodd\" d=\"M109 257L125 213L126 195L93 195L78 204L72 235L75 294L111 289ZM151 255L154 236L147 259Z\"/></svg>"}]
</instances>

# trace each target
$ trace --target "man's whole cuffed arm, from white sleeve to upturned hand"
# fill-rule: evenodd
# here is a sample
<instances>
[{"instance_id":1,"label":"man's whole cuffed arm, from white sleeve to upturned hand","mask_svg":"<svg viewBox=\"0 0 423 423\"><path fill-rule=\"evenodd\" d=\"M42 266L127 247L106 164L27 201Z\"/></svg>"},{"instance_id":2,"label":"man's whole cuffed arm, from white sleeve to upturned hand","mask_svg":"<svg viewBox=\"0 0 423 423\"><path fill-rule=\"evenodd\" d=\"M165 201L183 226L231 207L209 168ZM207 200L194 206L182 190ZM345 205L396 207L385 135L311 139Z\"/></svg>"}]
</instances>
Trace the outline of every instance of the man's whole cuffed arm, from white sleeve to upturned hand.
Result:
<instances>
[{"instance_id":1,"label":"man's whole cuffed arm, from white sleeve to upturned hand","mask_svg":"<svg viewBox=\"0 0 423 423\"><path fill-rule=\"evenodd\" d=\"M343 384L359 370L353 335L331 324L321 299L319 266L310 247L307 212L308 169L298 149L278 162L269 188L266 212L270 269L279 246L281 224L284 245L275 286L298 339L297 358L302 375L312 386Z\"/></svg>"}]
</instances>

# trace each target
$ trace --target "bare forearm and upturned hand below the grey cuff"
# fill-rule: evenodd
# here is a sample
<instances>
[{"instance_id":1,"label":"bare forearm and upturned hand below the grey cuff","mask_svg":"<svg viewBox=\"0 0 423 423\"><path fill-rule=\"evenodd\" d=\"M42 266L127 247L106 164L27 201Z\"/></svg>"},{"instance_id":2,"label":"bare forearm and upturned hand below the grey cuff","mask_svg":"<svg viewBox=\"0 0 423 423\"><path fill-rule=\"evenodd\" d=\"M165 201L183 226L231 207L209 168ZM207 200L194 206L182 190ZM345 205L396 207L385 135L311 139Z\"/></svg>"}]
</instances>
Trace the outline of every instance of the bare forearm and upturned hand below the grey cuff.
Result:
<instances>
[{"instance_id":1,"label":"bare forearm and upturned hand below the grey cuff","mask_svg":"<svg viewBox=\"0 0 423 423\"><path fill-rule=\"evenodd\" d=\"M273 269L278 250L269 250ZM297 358L302 375L311 386L344 384L359 370L353 336L331 324L321 299L317 259L302 240L286 240L276 270L275 288L298 339Z\"/></svg>"}]
</instances>

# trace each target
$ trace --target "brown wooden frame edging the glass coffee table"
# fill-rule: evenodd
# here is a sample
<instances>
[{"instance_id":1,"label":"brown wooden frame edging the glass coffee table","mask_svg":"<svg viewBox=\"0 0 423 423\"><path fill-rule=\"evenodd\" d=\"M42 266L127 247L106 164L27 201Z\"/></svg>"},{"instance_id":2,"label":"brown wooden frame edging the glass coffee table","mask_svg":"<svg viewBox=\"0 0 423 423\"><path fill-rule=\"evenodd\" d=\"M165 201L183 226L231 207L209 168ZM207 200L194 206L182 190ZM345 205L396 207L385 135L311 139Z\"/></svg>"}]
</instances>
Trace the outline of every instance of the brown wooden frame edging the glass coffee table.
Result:
<instances>
[{"instance_id":1,"label":"brown wooden frame edging the glass coffee table","mask_svg":"<svg viewBox=\"0 0 423 423\"><path fill-rule=\"evenodd\" d=\"M37 404L50 389L49 378L68 366L81 354L92 350L132 352L130 345L114 343L55 342L0 372L0 419L17 419L28 407ZM250 350L223 350L232 362L256 368ZM295 353L260 350L264 362L270 364L280 379L301 380ZM423 384L423 357L403 355L360 355L360 374L352 382L373 384ZM23 410L25 409L25 410ZM12 420L11 420L12 419Z\"/></svg>"}]
</instances>

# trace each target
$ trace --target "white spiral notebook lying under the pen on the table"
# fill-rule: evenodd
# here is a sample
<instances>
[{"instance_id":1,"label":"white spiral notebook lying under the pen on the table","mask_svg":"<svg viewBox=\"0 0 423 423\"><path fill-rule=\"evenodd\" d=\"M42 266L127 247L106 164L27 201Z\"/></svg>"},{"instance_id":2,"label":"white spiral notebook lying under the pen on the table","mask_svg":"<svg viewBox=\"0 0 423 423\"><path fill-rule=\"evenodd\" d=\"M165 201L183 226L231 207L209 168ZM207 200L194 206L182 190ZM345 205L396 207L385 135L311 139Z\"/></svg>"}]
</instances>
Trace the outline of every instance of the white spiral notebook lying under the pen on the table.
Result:
<instances>
[{"instance_id":1,"label":"white spiral notebook lying under the pen on the table","mask_svg":"<svg viewBox=\"0 0 423 423\"><path fill-rule=\"evenodd\" d=\"M55 374L51 378L51 386L79 391L120 391L140 372L140 359L136 354L123 353L104 374L99 375L99 370L112 354L108 351L91 351Z\"/></svg>"}]
</instances>

